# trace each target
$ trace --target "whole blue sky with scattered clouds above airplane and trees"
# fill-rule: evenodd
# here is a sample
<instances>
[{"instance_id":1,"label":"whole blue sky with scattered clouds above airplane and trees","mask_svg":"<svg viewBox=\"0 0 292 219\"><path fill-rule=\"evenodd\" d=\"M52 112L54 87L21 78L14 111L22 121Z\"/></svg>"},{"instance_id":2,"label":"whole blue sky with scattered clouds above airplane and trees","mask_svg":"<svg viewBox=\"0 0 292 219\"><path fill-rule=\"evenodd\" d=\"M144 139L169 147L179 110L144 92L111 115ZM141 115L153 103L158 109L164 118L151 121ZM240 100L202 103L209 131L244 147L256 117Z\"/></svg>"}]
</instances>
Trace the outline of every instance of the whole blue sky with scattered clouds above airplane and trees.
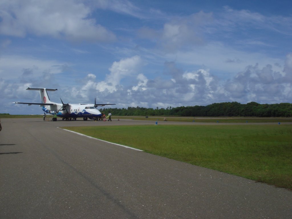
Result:
<instances>
[{"instance_id":1,"label":"whole blue sky with scattered clouds above airplane and trees","mask_svg":"<svg viewBox=\"0 0 292 219\"><path fill-rule=\"evenodd\" d=\"M1 0L0 113L292 102L292 1Z\"/></svg>"}]
</instances>

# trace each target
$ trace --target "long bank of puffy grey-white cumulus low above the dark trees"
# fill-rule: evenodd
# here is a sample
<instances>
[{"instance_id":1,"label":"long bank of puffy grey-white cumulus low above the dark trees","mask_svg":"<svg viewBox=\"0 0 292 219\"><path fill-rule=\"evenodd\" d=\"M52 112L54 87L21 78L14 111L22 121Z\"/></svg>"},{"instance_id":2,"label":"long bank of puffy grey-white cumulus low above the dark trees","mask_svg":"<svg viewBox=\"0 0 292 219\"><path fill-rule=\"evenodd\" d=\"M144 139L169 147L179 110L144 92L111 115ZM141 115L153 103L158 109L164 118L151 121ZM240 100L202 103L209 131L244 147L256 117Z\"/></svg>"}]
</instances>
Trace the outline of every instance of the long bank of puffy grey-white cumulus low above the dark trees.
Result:
<instances>
[{"instance_id":1,"label":"long bank of puffy grey-white cumulus low above the dark trees","mask_svg":"<svg viewBox=\"0 0 292 219\"><path fill-rule=\"evenodd\" d=\"M206 105L214 102L238 101L247 103L251 101L259 103L289 102L292 97L291 88L291 58L286 57L284 71L278 72L272 65L259 67L248 65L244 71L239 72L233 78L226 81L219 80L210 73L209 69L199 69L183 72L178 69L175 62L166 62L164 74L173 76L172 79L146 79L143 86L133 86L128 90L128 95L139 103L152 103L150 107L164 105ZM170 86L168 86L171 81ZM139 89L143 87L144 89ZM285 98L283 98L283 95ZM164 103L164 104L162 104ZM169 104L172 103L172 104Z\"/></svg>"}]
</instances>

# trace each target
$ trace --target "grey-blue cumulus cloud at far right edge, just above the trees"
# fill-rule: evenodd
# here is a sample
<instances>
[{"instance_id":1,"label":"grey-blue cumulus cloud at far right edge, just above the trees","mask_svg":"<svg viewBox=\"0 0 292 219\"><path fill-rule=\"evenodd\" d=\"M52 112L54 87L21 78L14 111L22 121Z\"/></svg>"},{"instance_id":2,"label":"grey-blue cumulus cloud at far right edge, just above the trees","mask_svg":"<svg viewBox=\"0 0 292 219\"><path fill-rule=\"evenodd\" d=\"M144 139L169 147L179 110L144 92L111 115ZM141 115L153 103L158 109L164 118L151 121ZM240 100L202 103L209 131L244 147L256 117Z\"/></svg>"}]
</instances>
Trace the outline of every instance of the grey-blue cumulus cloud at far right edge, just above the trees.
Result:
<instances>
[{"instance_id":1,"label":"grey-blue cumulus cloud at far right edge, just above the trees","mask_svg":"<svg viewBox=\"0 0 292 219\"><path fill-rule=\"evenodd\" d=\"M225 84L225 91L231 100L239 102L277 103L291 101L291 54L286 57L284 72L276 72L272 65L259 68L249 65ZM286 74L285 74L286 73ZM284 97L284 98L283 98Z\"/></svg>"}]
</instances>

